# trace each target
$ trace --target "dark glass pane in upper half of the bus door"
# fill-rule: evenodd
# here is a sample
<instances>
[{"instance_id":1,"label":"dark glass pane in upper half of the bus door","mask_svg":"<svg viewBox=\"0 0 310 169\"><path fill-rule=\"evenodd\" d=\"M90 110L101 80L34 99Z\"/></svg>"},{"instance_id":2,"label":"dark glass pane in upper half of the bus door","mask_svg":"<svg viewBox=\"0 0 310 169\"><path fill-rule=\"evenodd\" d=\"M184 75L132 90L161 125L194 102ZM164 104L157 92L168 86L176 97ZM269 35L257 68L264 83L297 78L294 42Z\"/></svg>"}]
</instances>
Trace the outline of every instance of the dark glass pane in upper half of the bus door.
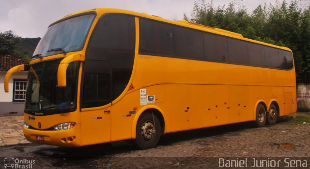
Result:
<instances>
[{"instance_id":1,"label":"dark glass pane in upper half of the bus door","mask_svg":"<svg viewBox=\"0 0 310 169\"><path fill-rule=\"evenodd\" d=\"M106 61L85 61L82 108L104 106L111 102L110 72Z\"/></svg>"}]
</instances>

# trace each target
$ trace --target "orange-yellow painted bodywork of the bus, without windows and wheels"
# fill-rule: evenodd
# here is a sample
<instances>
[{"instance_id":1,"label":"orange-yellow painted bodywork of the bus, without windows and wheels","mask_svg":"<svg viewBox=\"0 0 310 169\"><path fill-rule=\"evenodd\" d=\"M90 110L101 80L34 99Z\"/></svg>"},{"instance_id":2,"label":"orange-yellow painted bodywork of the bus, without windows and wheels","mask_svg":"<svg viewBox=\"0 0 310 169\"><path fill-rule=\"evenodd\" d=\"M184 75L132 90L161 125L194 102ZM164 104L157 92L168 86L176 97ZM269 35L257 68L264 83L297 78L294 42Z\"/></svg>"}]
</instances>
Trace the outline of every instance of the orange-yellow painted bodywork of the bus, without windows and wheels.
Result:
<instances>
[{"instance_id":1,"label":"orange-yellow painted bodywork of the bus, without windows and wheels","mask_svg":"<svg viewBox=\"0 0 310 169\"><path fill-rule=\"evenodd\" d=\"M141 55L138 53L139 17L291 51L289 48L243 38L228 31L171 21L126 10L98 8L71 15L90 11L96 12L97 16L81 51L35 59L30 61L30 64L64 58L73 54L84 55L91 33L102 15L107 13L134 15L136 16L136 48L129 83L124 92L112 103L98 108L83 108L80 111L81 64L78 77L78 104L75 112L50 116L32 116L25 113L25 121L31 126L37 126L38 121L42 123L42 128L45 129L67 122L75 122L77 125L72 129L62 131L24 128L25 137L32 142L40 142L35 140L36 135L42 135L47 139L41 143L59 146L82 146L136 138L136 135L139 134L136 133L139 117L143 112L150 110L157 110L163 116L164 133L254 121L256 107L259 103L263 103L269 109L271 103L276 102L279 106L280 116L296 112L294 68L292 70L278 70ZM87 58L87 56L85 57ZM141 89L145 89L147 95L154 95L155 101L151 103L142 102L143 99L140 98ZM105 114L104 111L110 111L110 113ZM28 116L34 117L36 120L31 121ZM98 116L103 117L102 121L91 120ZM74 141L63 142L63 138L72 136L75 136Z\"/></svg>"}]
</instances>

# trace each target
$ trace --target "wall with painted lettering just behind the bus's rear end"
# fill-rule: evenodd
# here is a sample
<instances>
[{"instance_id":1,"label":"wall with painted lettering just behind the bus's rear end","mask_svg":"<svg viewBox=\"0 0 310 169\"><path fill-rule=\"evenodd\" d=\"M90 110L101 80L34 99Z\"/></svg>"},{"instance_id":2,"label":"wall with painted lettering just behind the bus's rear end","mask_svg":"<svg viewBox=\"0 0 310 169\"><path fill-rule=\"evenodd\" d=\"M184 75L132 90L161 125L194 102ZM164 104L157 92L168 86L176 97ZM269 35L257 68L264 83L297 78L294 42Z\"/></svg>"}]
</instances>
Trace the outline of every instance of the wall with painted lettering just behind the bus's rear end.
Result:
<instances>
[{"instance_id":1,"label":"wall with painted lettering just behind the bus's rear end","mask_svg":"<svg viewBox=\"0 0 310 169\"><path fill-rule=\"evenodd\" d=\"M297 85L297 111L310 111L310 84Z\"/></svg>"}]
</instances>

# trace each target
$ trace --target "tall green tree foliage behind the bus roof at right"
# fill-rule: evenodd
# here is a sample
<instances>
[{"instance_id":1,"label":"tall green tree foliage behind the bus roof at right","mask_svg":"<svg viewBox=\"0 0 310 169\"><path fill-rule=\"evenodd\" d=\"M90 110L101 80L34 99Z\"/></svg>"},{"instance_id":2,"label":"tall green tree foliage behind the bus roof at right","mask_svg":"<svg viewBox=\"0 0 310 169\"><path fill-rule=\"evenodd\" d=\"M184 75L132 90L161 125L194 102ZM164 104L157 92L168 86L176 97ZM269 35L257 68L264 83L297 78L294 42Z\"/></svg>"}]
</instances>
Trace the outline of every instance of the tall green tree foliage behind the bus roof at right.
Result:
<instances>
[{"instance_id":1,"label":"tall green tree foliage behind the bus roof at right","mask_svg":"<svg viewBox=\"0 0 310 169\"><path fill-rule=\"evenodd\" d=\"M310 6L302 6L299 1L265 3L249 13L243 0L217 7L213 0L198 0L194 2L191 18L184 14L184 19L291 48L297 82L310 83Z\"/></svg>"}]
</instances>

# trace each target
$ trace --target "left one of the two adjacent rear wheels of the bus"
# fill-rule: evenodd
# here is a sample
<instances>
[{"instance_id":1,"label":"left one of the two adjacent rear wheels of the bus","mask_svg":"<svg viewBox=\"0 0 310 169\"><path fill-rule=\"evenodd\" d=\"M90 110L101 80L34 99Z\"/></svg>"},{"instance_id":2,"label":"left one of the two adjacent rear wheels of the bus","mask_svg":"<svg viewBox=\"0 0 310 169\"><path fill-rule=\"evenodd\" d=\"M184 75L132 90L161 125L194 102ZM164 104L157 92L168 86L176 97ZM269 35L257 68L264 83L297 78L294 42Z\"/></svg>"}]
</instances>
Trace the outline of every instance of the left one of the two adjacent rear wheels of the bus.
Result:
<instances>
[{"instance_id":1,"label":"left one of the two adjacent rear wheels of the bus","mask_svg":"<svg viewBox=\"0 0 310 169\"><path fill-rule=\"evenodd\" d=\"M267 120L267 106L263 100L257 102L255 106L255 122L258 127L263 127Z\"/></svg>"}]
</instances>

